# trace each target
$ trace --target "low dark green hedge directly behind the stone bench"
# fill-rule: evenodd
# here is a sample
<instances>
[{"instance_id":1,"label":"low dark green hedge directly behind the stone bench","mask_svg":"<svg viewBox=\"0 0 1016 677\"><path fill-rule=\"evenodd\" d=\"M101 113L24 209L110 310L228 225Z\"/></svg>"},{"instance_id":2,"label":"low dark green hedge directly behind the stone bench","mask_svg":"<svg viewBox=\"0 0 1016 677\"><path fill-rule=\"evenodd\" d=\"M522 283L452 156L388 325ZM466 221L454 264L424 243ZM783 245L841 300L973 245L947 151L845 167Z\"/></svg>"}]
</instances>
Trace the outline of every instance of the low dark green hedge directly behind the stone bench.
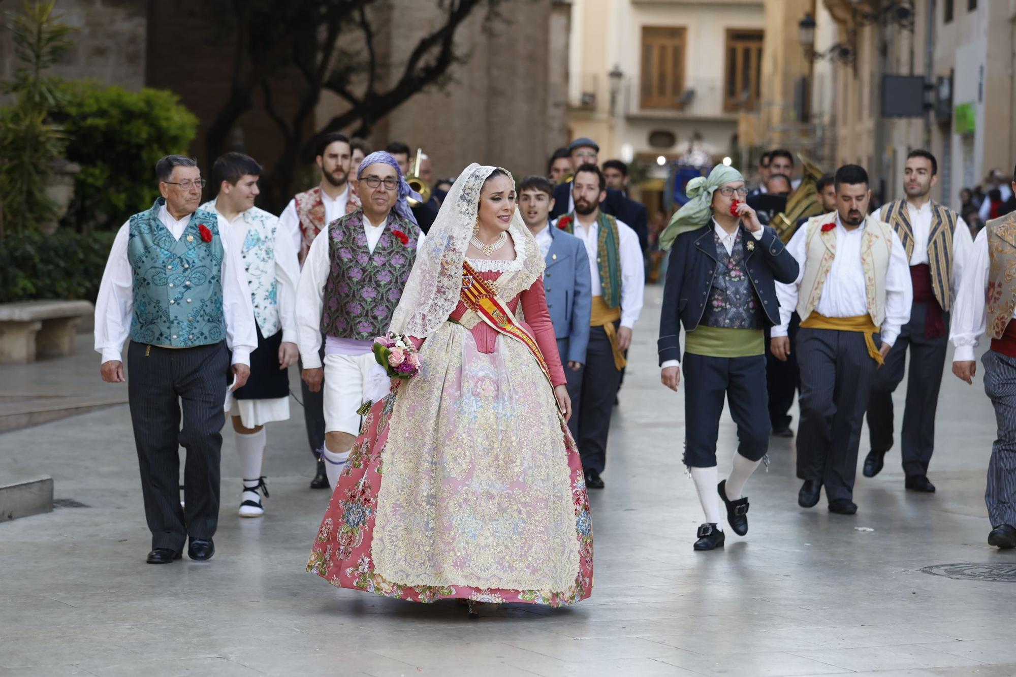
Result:
<instances>
[{"instance_id":1,"label":"low dark green hedge directly behind the stone bench","mask_svg":"<svg viewBox=\"0 0 1016 677\"><path fill-rule=\"evenodd\" d=\"M29 231L0 239L0 303L34 299L94 302L116 232L51 236Z\"/></svg>"}]
</instances>

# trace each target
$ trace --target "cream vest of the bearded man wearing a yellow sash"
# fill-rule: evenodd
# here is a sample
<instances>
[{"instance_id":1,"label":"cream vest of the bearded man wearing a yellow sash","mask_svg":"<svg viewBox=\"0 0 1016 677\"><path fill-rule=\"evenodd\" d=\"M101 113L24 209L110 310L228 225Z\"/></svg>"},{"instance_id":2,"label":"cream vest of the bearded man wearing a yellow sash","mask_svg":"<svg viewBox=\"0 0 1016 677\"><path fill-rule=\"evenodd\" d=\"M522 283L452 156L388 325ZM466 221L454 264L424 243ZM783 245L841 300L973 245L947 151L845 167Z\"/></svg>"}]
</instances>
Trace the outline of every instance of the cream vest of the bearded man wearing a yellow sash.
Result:
<instances>
[{"instance_id":1,"label":"cream vest of the bearded man wearing a yellow sash","mask_svg":"<svg viewBox=\"0 0 1016 677\"><path fill-rule=\"evenodd\" d=\"M836 222L836 212L812 217L804 228L807 241L804 276L798 288L798 314L808 319L819 305L822 288L836 258L836 229L822 232L826 224ZM864 242L861 244L861 265L865 271L865 293L868 297L868 314L876 326L882 326L886 317L886 273L892 252L892 227L868 217L865 222Z\"/></svg>"}]
</instances>

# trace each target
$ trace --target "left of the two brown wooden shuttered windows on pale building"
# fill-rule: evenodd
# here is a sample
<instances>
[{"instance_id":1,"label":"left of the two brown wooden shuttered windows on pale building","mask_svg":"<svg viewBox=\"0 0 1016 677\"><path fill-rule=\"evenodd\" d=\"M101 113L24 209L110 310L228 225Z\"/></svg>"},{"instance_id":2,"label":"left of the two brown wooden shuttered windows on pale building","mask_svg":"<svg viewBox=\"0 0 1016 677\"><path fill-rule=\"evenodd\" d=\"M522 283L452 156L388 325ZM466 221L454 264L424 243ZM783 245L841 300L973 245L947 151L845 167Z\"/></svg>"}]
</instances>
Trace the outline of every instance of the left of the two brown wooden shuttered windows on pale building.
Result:
<instances>
[{"instance_id":1,"label":"left of the two brown wooden shuttered windows on pale building","mask_svg":"<svg viewBox=\"0 0 1016 677\"><path fill-rule=\"evenodd\" d=\"M685 90L685 29L642 26L642 108L681 108Z\"/></svg>"}]
</instances>

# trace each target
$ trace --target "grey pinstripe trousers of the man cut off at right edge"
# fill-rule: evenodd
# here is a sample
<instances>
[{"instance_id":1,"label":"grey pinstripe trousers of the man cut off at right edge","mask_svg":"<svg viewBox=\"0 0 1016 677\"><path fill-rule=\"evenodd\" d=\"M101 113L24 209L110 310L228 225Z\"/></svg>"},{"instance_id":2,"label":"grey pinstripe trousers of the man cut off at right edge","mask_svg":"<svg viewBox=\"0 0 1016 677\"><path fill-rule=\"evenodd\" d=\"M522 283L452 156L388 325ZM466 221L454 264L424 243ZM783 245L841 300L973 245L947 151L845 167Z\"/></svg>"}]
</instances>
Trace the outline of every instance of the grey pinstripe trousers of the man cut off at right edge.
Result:
<instances>
[{"instance_id":1,"label":"grey pinstripe trousers of the man cut off at right edge","mask_svg":"<svg viewBox=\"0 0 1016 677\"><path fill-rule=\"evenodd\" d=\"M1016 527L1016 358L988 351L985 365L985 393L995 406L999 432L988 463L985 504L992 528Z\"/></svg>"}]
</instances>

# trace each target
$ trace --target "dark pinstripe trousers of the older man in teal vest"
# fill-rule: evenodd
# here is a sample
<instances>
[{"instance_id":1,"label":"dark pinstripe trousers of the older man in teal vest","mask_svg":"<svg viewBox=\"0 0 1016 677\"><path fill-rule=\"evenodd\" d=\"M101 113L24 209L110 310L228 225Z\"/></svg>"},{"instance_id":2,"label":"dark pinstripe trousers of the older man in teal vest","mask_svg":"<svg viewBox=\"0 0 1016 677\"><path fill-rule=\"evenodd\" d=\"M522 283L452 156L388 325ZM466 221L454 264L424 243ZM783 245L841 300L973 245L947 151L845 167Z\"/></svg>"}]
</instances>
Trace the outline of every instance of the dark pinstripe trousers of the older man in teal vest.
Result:
<instances>
[{"instance_id":1,"label":"dark pinstripe trousers of the older man in teal vest","mask_svg":"<svg viewBox=\"0 0 1016 677\"><path fill-rule=\"evenodd\" d=\"M209 539L218 524L219 457L230 382L225 342L168 349L131 342L127 390L141 471L144 516L151 547L181 552L192 539ZM181 405L183 428L180 427ZM184 502L180 506L180 446Z\"/></svg>"}]
</instances>

